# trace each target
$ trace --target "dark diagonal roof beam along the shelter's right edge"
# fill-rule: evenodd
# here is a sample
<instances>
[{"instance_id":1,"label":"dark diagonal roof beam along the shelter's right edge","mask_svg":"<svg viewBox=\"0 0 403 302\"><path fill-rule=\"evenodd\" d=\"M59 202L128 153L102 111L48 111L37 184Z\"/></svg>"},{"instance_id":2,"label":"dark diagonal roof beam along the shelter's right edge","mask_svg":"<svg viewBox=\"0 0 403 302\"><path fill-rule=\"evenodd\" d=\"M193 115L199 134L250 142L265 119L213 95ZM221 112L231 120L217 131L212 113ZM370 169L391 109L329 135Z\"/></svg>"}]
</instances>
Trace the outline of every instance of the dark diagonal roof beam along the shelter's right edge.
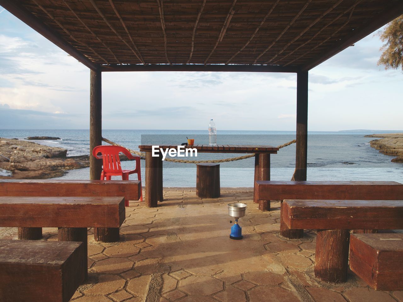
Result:
<instances>
[{"instance_id":1,"label":"dark diagonal roof beam along the shelter's right edge","mask_svg":"<svg viewBox=\"0 0 403 302\"><path fill-rule=\"evenodd\" d=\"M311 62L303 65L302 70L307 71L318 66L320 63L326 61L335 54L338 54L342 50L345 50L347 47L376 31L386 23L396 19L401 14L403 14L403 1L401 1L399 4L390 5L383 13L379 14L378 17L371 19L359 29L352 31L351 34L344 37L336 45L329 48L322 56L315 58Z\"/></svg>"}]
</instances>

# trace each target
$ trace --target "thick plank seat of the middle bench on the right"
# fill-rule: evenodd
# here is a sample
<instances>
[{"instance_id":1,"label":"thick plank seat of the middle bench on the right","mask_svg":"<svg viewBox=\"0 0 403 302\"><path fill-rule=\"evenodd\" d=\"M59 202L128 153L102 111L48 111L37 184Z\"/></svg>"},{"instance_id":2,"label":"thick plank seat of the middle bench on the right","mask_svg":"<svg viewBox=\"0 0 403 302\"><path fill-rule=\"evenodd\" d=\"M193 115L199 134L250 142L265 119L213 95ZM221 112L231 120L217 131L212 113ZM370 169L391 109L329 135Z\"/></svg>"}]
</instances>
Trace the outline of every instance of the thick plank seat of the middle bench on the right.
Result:
<instances>
[{"instance_id":1,"label":"thick plank seat of the middle bench on the right","mask_svg":"<svg viewBox=\"0 0 403 302\"><path fill-rule=\"evenodd\" d=\"M291 229L401 230L403 200L289 200L283 221Z\"/></svg>"}]
</instances>

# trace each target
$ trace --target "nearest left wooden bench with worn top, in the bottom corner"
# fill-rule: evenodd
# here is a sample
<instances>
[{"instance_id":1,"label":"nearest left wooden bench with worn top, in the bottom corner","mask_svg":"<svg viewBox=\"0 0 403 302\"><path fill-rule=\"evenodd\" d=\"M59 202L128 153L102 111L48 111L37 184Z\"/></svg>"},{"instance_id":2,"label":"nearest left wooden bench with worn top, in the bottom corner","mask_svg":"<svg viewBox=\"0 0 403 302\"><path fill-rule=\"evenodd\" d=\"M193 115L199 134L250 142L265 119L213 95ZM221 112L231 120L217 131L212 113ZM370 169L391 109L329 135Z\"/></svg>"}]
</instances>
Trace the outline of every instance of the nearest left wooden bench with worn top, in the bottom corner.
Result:
<instances>
[{"instance_id":1,"label":"nearest left wooden bench with worn top, in the bottom corner","mask_svg":"<svg viewBox=\"0 0 403 302\"><path fill-rule=\"evenodd\" d=\"M67 302L85 279L81 242L0 240L0 301Z\"/></svg>"}]
</instances>

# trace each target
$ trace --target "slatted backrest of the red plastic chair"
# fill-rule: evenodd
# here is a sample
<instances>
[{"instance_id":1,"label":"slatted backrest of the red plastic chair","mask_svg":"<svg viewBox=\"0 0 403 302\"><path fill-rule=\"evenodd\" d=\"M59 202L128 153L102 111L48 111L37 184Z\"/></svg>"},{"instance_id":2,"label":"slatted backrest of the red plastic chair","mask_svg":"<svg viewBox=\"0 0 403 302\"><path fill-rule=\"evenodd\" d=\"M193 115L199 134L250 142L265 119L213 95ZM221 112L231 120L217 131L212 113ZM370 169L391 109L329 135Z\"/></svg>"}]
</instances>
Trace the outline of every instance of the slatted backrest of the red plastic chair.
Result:
<instances>
[{"instance_id":1,"label":"slatted backrest of the red plastic chair","mask_svg":"<svg viewBox=\"0 0 403 302\"><path fill-rule=\"evenodd\" d=\"M129 150L120 146L98 146L92 151L92 155L100 159L102 156L102 165L104 166L104 172L106 173L121 173L122 167L120 166L119 153L122 152L125 155L128 153L131 155ZM99 156L98 153L102 155Z\"/></svg>"}]
</instances>

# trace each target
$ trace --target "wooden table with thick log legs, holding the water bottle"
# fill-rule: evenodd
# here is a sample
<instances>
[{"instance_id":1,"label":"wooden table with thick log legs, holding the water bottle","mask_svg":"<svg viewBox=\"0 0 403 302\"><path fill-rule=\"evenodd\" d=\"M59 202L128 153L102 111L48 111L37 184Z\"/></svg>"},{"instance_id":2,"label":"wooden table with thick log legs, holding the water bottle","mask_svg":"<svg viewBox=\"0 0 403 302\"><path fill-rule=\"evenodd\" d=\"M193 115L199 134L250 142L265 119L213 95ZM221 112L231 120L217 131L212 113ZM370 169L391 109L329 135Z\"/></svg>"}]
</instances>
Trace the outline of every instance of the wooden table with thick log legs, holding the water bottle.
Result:
<instances>
[{"instance_id":1,"label":"wooden table with thick log legs, holding the water bottle","mask_svg":"<svg viewBox=\"0 0 403 302\"><path fill-rule=\"evenodd\" d=\"M160 145L158 148L178 149L177 145ZM255 179L270 180L270 154L276 154L277 147L262 145L193 145L185 146L185 149L195 148L201 153L254 153L255 154ZM162 155L152 156L152 145L140 145L140 151L145 152L145 205L157 207L162 197ZM186 157L185 157L186 158ZM181 158L182 159L182 158ZM253 194L253 201L258 202Z\"/></svg>"}]
</instances>

